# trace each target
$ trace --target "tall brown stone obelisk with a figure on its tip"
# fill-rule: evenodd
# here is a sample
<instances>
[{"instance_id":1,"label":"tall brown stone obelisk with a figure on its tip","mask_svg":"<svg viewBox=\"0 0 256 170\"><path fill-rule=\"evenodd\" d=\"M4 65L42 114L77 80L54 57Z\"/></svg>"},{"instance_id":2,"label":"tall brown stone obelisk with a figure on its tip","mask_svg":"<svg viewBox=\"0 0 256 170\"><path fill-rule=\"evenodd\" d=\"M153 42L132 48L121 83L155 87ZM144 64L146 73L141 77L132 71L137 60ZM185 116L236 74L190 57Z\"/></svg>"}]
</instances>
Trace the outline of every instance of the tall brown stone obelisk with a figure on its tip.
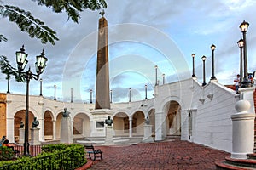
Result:
<instances>
[{"instance_id":1,"label":"tall brown stone obelisk with a figure on its tip","mask_svg":"<svg viewBox=\"0 0 256 170\"><path fill-rule=\"evenodd\" d=\"M96 67L96 106L95 109L110 109L108 71L108 21L104 11L99 19L98 51Z\"/></svg>"}]
</instances>

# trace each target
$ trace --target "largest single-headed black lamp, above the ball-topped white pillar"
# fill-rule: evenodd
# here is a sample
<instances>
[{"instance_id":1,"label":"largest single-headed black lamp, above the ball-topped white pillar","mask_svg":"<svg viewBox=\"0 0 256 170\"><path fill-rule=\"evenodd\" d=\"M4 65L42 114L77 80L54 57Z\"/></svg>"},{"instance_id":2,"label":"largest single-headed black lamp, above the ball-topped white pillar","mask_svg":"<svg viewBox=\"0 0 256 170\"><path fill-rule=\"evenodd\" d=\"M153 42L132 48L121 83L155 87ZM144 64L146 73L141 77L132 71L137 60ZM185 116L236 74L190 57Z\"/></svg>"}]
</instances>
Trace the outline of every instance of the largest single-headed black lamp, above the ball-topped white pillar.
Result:
<instances>
[{"instance_id":1,"label":"largest single-headed black lamp, above the ball-topped white pillar","mask_svg":"<svg viewBox=\"0 0 256 170\"><path fill-rule=\"evenodd\" d=\"M247 72L247 29L248 29L249 23L245 20L241 23L239 26L242 32L242 38L243 38L243 80L241 82L241 88L249 88L252 87L252 82L248 79L248 72Z\"/></svg>"}]
</instances>

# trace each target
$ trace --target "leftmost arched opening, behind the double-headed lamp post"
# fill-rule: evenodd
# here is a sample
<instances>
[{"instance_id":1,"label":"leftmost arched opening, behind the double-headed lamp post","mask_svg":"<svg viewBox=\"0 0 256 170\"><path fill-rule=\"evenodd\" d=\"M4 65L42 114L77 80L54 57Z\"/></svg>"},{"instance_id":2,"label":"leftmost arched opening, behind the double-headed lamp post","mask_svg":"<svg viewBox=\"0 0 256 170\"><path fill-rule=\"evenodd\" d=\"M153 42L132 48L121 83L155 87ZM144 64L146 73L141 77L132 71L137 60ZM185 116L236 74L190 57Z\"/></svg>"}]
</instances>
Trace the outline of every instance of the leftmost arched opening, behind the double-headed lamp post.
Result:
<instances>
[{"instance_id":1,"label":"leftmost arched opening, behind the double-headed lamp post","mask_svg":"<svg viewBox=\"0 0 256 170\"><path fill-rule=\"evenodd\" d=\"M20 122L24 122L25 124L25 110L17 111L15 113L15 142L19 141L20 137ZM31 111L28 112L28 127L30 128L32 126L32 122L34 120L34 115ZM30 130L28 131L28 138L30 139Z\"/></svg>"}]
</instances>

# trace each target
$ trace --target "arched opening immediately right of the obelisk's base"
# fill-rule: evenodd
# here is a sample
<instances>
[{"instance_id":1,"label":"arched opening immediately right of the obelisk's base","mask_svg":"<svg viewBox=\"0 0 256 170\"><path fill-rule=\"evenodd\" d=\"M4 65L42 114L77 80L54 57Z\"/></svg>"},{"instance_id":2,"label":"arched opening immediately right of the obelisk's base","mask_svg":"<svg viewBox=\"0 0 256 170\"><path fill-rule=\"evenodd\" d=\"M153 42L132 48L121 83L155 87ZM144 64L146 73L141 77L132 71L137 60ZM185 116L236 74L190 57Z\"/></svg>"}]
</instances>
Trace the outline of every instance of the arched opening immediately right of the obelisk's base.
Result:
<instances>
[{"instance_id":1,"label":"arched opening immediately right of the obelisk's base","mask_svg":"<svg viewBox=\"0 0 256 170\"><path fill-rule=\"evenodd\" d=\"M129 135L129 117L124 112L113 116L113 130L116 136Z\"/></svg>"}]
</instances>

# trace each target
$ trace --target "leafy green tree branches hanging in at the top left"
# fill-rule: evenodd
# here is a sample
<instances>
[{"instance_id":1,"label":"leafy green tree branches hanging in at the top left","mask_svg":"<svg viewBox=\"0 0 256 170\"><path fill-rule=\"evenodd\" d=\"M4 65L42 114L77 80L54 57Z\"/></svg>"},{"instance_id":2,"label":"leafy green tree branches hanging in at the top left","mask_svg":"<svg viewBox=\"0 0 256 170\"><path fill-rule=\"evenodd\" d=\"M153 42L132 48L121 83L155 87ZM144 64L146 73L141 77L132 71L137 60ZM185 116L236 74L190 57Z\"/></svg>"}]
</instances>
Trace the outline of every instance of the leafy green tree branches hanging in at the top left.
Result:
<instances>
[{"instance_id":1,"label":"leafy green tree branches hanging in at the top left","mask_svg":"<svg viewBox=\"0 0 256 170\"><path fill-rule=\"evenodd\" d=\"M37 2L39 6L46 6L52 8L54 13L61 13L63 11L67 14L67 20L72 19L74 22L79 23L80 13L85 9L96 10L101 8L107 8L105 0L32 0ZM1 0L0 0L1 3ZM42 43L50 42L55 45L55 41L59 38L56 37L56 32L48 26L44 25L44 22L34 18L29 11L25 11L19 7L11 5L0 4L0 15L3 18L9 18L10 22L15 22L20 28L20 31L28 33L29 37L36 37L41 40ZM1 35L0 42L6 42L8 39ZM16 81L22 81L22 78L18 74L18 71L9 64L9 60L6 56L0 55L0 69L3 74L6 74L6 79L10 78L10 75L14 75Z\"/></svg>"}]
</instances>

